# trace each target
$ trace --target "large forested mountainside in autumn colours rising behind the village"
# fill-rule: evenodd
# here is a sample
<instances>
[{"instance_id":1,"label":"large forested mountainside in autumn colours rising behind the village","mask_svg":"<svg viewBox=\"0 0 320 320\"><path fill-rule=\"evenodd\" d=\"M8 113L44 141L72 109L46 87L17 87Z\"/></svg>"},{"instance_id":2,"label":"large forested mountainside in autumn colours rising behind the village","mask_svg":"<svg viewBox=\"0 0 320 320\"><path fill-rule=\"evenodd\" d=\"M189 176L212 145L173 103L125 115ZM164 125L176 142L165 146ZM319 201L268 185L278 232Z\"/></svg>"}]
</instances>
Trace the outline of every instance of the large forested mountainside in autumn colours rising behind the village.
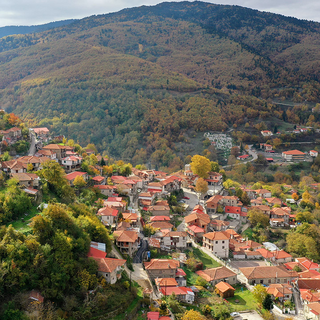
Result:
<instances>
[{"instance_id":1,"label":"large forested mountainside in autumn colours rising behind the village","mask_svg":"<svg viewBox=\"0 0 320 320\"><path fill-rule=\"evenodd\" d=\"M190 135L258 117L297 120L273 98L316 103L318 31L203 2L92 16L0 39L0 103L113 157L181 166L187 151L177 143Z\"/></svg>"}]
</instances>

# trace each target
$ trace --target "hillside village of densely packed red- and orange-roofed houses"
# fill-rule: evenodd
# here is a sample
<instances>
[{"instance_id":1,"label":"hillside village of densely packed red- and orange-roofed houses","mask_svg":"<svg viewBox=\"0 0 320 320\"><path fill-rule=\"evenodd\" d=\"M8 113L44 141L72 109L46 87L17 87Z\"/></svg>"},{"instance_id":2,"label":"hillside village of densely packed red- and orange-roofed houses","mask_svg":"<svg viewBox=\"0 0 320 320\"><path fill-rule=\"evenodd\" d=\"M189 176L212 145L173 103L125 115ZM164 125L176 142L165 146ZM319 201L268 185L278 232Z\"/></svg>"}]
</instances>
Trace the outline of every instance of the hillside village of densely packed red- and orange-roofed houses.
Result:
<instances>
[{"instance_id":1,"label":"hillside village of densely packed red- and orange-roofed houses","mask_svg":"<svg viewBox=\"0 0 320 320\"><path fill-rule=\"evenodd\" d=\"M2 135L8 144L22 136L18 127ZM198 305L206 295L220 296L222 302L230 301L235 318L248 319L255 312L251 316L259 319L244 298L257 285L271 295L274 314L319 319L320 266L307 257L293 257L272 242L259 243L244 236L252 226L252 210L267 217L274 230L290 230L300 224L291 206L301 201L292 196L297 193L293 186L284 186L288 197L284 201L270 190L241 185L247 197L244 204L236 188L224 183L221 172L207 172L208 189L199 193L199 176L190 164L173 174L137 168L123 175L106 173L103 164L108 159L91 149L79 154L62 139L51 137L47 128L30 129L29 155L2 161L1 170L41 206L48 204L42 202L37 171L48 161L61 165L76 190L93 188L101 194L96 215L111 234L112 251L106 252L103 243L92 242L88 257L97 262L98 273L107 283L116 283L125 270L144 289L144 297L154 301L147 319L174 319L169 309L161 311L161 299L172 295L186 305ZM247 151L238 156L239 163L250 157ZM272 151L271 145L262 143L260 150L253 152ZM283 162L317 156L315 150L308 154L288 150L281 155ZM84 157L97 160L95 174L81 169ZM318 185L310 187L317 190Z\"/></svg>"}]
</instances>

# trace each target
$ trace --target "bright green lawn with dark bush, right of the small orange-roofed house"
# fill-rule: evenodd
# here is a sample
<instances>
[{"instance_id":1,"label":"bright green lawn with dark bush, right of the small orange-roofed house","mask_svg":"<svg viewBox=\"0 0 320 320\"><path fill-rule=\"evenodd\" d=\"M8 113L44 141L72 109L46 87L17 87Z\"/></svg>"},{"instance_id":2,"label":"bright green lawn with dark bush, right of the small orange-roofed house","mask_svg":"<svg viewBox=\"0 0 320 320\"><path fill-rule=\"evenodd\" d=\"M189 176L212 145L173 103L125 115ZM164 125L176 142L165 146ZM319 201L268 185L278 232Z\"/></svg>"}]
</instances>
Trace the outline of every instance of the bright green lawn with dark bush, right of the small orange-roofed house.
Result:
<instances>
[{"instance_id":1,"label":"bright green lawn with dark bush, right of the small orange-roofed house","mask_svg":"<svg viewBox=\"0 0 320 320\"><path fill-rule=\"evenodd\" d=\"M258 304L254 299L251 291L247 288L243 287L243 291L241 291L241 286L235 286L236 289L234 293L234 297L226 299L232 311L244 311L244 310L257 310ZM236 300L238 302L236 303Z\"/></svg>"}]
</instances>

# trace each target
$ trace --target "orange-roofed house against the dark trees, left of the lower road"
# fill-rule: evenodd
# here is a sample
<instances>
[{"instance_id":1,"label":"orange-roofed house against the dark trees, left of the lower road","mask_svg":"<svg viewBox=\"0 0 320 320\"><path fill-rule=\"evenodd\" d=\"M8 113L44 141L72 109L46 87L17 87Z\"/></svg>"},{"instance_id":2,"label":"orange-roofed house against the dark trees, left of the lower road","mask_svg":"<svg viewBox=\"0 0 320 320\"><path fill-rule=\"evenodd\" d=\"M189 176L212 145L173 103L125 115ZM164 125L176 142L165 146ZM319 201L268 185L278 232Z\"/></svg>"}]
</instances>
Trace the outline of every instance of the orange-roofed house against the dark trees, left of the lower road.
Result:
<instances>
[{"instance_id":1,"label":"orange-roofed house against the dark trees, left of the lower road","mask_svg":"<svg viewBox=\"0 0 320 320\"><path fill-rule=\"evenodd\" d=\"M103 276L110 284L114 284L121 278L123 266L126 264L124 259L98 258L92 257L98 264L98 275Z\"/></svg>"}]
</instances>

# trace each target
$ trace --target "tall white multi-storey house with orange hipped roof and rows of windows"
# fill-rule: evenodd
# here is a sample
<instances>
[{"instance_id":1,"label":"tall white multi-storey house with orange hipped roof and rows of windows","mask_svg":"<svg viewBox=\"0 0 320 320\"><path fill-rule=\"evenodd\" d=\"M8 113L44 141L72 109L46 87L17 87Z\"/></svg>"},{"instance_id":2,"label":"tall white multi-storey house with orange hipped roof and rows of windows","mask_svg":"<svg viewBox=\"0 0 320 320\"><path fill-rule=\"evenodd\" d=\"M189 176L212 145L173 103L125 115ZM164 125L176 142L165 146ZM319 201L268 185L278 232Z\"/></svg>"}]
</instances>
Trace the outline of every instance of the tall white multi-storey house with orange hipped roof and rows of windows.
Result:
<instances>
[{"instance_id":1,"label":"tall white multi-storey house with orange hipped roof and rows of windows","mask_svg":"<svg viewBox=\"0 0 320 320\"><path fill-rule=\"evenodd\" d=\"M229 257L230 235L223 231L209 232L203 235L203 247L220 258Z\"/></svg>"}]
</instances>

